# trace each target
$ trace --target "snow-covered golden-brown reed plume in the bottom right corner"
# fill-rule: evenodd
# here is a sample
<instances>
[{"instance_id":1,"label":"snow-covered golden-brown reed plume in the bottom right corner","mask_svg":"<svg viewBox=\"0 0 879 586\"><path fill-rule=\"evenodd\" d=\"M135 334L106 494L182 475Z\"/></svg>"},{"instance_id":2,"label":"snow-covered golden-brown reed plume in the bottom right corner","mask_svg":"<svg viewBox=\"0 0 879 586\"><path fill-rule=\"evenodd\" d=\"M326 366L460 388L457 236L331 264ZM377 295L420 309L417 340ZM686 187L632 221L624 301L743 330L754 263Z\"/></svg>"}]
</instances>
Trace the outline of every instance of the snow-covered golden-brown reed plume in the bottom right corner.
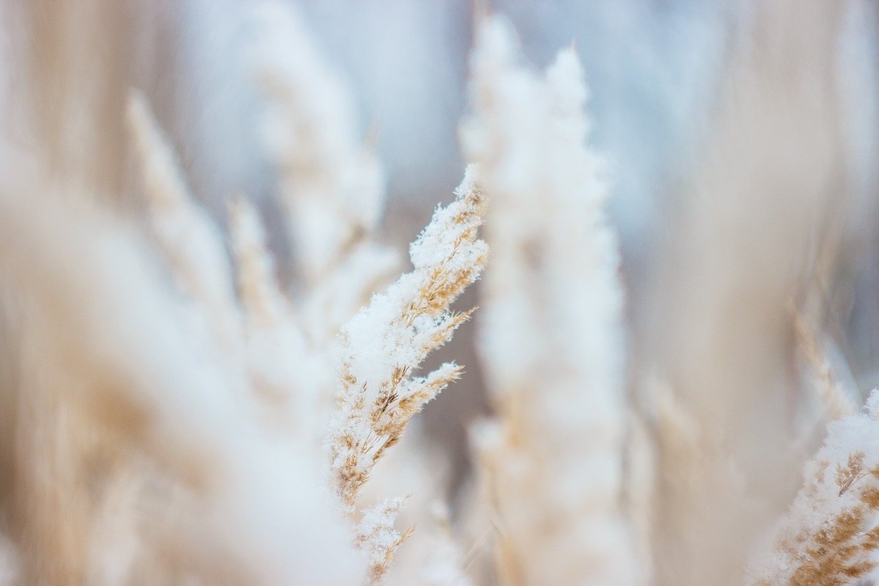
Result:
<instances>
[{"instance_id":1,"label":"snow-covered golden-brown reed plume in the bottom right corner","mask_svg":"<svg viewBox=\"0 0 879 586\"><path fill-rule=\"evenodd\" d=\"M824 447L749 583L842 586L879 567L879 392L861 414L832 422ZM875 577L875 576L874 576Z\"/></svg>"}]
</instances>

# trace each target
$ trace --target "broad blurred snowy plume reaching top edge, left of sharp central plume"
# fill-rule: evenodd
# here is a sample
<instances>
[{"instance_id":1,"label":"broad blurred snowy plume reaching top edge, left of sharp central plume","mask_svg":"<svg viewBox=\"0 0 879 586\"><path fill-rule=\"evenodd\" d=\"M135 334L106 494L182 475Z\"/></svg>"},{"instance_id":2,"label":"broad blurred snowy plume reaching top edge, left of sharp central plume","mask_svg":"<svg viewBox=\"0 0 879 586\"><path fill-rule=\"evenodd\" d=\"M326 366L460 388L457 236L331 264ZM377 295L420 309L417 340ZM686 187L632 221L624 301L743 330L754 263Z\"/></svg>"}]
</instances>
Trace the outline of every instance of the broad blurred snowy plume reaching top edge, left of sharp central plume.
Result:
<instances>
[{"instance_id":1,"label":"broad blurred snowy plume reaching top edge, left of sharp central plume","mask_svg":"<svg viewBox=\"0 0 879 586\"><path fill-rule=\"evenodd\" d=\"M254 75L265 93L264 143L280 173L280 199L309 297L306 326L335 337L396 270L396 253L374 242L384 172L361 144L356 109L290 4L255 5ZM320 315L309 324L309 315Z\"/></svg>"}]
</instances>

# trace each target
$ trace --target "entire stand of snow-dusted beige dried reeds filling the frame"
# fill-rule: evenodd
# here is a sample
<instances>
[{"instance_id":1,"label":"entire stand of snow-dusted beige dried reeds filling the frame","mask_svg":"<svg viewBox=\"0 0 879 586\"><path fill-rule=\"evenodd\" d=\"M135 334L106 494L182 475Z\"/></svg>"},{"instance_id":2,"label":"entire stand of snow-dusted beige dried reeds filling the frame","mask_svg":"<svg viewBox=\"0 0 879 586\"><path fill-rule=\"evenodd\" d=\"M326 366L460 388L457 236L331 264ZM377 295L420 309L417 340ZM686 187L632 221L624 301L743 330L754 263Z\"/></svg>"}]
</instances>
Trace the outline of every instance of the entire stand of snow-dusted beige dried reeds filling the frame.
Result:
<instances>
[{"instance_id":1,"label":"entire stand of snow-dusted beige dried reeds filling the frame","mask_svg":"<svg viewBox=\"0 0 879 586\"><path fill-rule=\"evenodd\" d=\"M858 408L839 333L857 12L749 5L638 272L609 211L636 168L593 146L575 47L541 70L477 11L469 165L405 271L374 138L289 4L243 9L272 196L208 201L82 15L0 4L43 35L0 84L28 104L0 136L0 586L879 579L879 395ZM422 426L459 379L490 413Z\"/></svg>"}]
</instances>

